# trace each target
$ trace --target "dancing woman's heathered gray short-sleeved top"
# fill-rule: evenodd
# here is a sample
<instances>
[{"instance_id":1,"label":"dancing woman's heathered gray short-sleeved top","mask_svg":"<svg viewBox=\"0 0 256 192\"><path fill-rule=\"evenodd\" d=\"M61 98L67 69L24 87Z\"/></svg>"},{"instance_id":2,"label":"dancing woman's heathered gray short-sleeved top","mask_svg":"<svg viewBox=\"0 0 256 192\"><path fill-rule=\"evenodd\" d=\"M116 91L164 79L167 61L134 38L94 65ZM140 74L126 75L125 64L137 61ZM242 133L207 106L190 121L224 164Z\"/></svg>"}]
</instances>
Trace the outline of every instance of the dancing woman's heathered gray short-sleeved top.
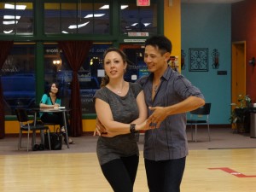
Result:
<instances>
[{"instance_id":1,"label":"dancing woman's heathered gray short-sleeved top","mask_svg":"<svg viewBox=\"0 0 256 192\"><path fill-rule=\"evenodd\" d=\"M113 120L130 124L139 116L136 98L142 90L141 85L129 83L129 90L126 96L119 96L112 90L108 90L107 87L102 87L102 89L96 91L94 99L98 98L108 102L113 114ZM129 133L116 137L99 137L96 153L100 165L120 157L139 155L136 136Z\"/></svg>"}]
</instances>

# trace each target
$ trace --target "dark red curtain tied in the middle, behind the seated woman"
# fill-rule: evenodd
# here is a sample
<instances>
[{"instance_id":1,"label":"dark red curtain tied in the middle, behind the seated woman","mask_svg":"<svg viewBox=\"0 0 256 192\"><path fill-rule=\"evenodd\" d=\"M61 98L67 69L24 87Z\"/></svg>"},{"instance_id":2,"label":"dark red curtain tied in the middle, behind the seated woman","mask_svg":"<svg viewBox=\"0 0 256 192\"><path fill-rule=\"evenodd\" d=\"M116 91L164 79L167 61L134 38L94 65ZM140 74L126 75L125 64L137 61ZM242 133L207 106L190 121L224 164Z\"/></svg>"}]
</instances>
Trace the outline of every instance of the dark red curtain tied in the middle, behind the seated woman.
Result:
<instances>
[{"instance_id":1,"label":"dark red curtain tied in the middle, behind the seated woman","mask_svg":"<svg viewBox=\"0 0 256 192\"><path fill-rule=\"evenodd\" d=\"M61 41L59 46L70 67L73 70L73 79L71 83L71 112L70 112L70 125L71 134L73 137L81 136L83 133L82 125L82 108L81 97L79 88L78 71L83 65L86 56L89 53L91 41Z\"/></svg>"}]
</instances>

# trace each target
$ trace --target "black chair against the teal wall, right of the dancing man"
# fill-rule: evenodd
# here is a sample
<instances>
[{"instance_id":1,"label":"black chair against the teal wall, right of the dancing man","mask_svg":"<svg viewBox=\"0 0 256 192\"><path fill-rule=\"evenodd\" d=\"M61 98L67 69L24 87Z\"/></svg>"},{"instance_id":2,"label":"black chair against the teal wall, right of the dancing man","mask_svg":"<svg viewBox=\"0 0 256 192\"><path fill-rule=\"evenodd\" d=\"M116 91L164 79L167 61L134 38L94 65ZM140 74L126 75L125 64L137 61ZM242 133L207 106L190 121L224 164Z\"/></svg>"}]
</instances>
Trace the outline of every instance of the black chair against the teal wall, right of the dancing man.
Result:
<instances>
[{"instance_id":1,"label":"black chair against the teal wall, right of the dancing man","mask_svg":"<svg viewBox=\"0 0 256 192\"><path fill-rule=\"evenodd\" d=\"M195 142L197 142L197 125L207 124L209 142L211 141L210 136L210 125L209 125L209 114L211 111L211 103L205 103L201 108L197 108L190 111L190 119L187 119L187 125L191 127L191 138L193 141L193 125L195 125Z\"/></svg>"}]
</instances>

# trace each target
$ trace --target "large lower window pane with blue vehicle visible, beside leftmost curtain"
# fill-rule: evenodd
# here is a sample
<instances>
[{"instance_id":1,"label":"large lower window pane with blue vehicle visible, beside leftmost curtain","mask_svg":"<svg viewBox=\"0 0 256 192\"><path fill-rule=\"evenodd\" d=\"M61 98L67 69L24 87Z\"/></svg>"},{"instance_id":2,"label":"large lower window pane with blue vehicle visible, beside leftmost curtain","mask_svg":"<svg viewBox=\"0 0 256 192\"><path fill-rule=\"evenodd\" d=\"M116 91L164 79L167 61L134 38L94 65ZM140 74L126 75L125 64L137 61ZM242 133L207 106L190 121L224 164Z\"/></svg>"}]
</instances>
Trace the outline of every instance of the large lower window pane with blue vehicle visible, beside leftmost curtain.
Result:
<instances>
[{"instance_id":1,"label":"large lower window pane with blue vehicle visible, beside leftmost curtain","mask_svg":"<svg viewBox=\"0 0 256 192\"><path fill-rule=\"evenodd\" d=\"M2 68L5 114L17 107L30 108L35 102L35 45L15 44Z\"/></svg>"}]
</instances>

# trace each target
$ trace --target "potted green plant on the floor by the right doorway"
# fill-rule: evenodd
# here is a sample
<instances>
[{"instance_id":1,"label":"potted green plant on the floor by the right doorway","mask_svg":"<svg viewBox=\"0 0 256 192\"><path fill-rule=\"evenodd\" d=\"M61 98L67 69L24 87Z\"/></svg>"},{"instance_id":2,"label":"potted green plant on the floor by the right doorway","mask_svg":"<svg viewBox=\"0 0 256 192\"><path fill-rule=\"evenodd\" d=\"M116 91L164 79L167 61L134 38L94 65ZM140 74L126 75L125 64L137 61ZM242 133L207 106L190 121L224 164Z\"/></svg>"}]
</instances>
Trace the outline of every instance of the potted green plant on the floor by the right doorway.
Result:
<instances>
[{"instance_id":1,"label":"potted green plant on the floor by the right doorway","mask_svg":"<svg viewBox=\"0 0 256 192\"><path fill-rule=\"evenodd\" d=\"M230 123L238 132L248 132L250 129L250 112L249 107L252 102L250 96L239 95L237 103L231 103L236 106L230 115Z\"/></svg>"}]
</instances>

